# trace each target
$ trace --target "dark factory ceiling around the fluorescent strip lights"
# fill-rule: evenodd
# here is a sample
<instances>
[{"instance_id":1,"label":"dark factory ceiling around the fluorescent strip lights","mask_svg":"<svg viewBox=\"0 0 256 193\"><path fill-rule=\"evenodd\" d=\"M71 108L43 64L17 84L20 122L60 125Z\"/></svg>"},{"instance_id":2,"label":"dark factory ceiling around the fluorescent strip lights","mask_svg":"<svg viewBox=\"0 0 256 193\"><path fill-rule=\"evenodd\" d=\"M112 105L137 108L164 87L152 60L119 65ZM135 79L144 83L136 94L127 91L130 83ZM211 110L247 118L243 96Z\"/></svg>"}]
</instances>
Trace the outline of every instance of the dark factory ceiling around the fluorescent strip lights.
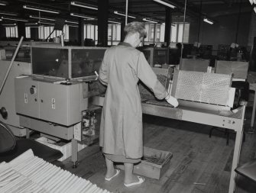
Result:
<instances>
[{"instance_id":1,"label":"dark factory ceiling around the fluorescent strip lights","mask_svg":"<svg viewBox=\"0 0 256 193\"><path fill-rule=\"evenodd\" d=\"M87 3L89 5L96 5L98 1L105 0L78 0L77 2ZM176 8L171 10L173 21L179 19L183 21L183 13L186 1L186 21L193 21L205 15L212 20L218 20L219 16L238 14L239 12L251 12L252 6L248 0L164 0L170 2ZM67 0L8 0L7 5L0 5L0 17L8 18L22 18L28 22L37 22L38 19L30 18L30 15L40 16L42 18L62 18L69 21L78 21L79 18L71 16L70 13L86 14L92 18L97 18L97 10L89 8L81 8L70 5L71 1ZM34 11L24 9L24 5L33 5L41 8L48 8L60 11L60 14L47 13L43 11ZM114 14L114 11L122 11L125 13L126 0L109 0L109 20L124 22L125 17ZM129 19L129 21L141 21L142 18L152 18L160 23L165 21L166 6L161 5L153 0L128 0L128 14L133 15L136 19ZM17 16L2 14L16 13ZM41 20L43 21L43 20ZM3 23L14 22L3 19ZM27 22L27 23L28 23ZM48 21L49 22L49 21ZM86 21L92 22L92 21Z\"/></svg>"}]
</instances>

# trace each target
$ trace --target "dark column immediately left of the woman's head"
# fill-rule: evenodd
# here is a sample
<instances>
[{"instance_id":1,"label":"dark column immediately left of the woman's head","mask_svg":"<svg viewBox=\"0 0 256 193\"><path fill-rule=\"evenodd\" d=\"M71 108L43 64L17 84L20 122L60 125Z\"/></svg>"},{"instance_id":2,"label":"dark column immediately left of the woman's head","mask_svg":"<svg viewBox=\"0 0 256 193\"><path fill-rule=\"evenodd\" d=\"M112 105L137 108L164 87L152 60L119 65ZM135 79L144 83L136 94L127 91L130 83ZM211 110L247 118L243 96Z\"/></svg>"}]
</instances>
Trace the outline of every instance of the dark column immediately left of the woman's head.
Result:
<instances>
[{"instance_id":1,"label":"dark column immediately left of the woman's head","mask_svg":"<svg viewBox=\"0 0 256 193\"><path fill-rule=\"evenodd\" d=\"M98 1L98 46L108 46L109 0Z\"/></svg>"}]
</instances>

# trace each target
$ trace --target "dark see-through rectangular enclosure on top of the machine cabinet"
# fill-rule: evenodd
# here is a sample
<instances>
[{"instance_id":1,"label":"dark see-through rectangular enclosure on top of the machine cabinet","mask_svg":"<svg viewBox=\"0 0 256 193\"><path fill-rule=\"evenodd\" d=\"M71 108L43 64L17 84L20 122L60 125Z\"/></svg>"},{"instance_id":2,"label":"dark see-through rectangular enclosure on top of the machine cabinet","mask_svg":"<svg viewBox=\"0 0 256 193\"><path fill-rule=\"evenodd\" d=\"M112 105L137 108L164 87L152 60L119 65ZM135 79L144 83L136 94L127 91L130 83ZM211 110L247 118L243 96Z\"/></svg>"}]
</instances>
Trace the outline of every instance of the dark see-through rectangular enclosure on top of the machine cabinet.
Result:
<instances>
[{"instance_id":1,"label":"dark see-through rectangular enclosure on top of the machine cabinet","mask_svg":"<svg viewBox=\"0 0 256 193\"><path fill-rule=\"evenodd\" d=\"M34 77L96 79L105 47L31 47Z\"/></svg>"}]
</instances>

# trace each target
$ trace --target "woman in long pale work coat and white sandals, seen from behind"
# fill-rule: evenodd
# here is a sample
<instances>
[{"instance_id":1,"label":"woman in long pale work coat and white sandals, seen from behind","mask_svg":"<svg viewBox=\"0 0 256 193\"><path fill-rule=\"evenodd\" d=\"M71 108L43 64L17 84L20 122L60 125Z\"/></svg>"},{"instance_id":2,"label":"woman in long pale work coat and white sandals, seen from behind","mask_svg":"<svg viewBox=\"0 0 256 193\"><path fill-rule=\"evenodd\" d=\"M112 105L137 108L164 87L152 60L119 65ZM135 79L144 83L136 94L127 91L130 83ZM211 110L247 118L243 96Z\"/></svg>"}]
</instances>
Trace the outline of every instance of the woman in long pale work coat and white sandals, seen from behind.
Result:
<instances>
[{"instance_id":1,"label":"woman in long pale work coat and white sandals, seen from behind","mask_svg":"<svg viewBox=\"0 0 256 193\"><path fill-rule=\"evenodd\" d=\"M151 88L156 98L166 98L174 107L178 105L177 99L168 95L157 80L144 54L135 49L146 36L143 23L127 24L124 42L105 51L99 69L99 80L107 85L99 137L107 166L105 180L110 181L119 174L120 171L114 168L114 162L124 162L126 187L144 182L144 178L132 172L134 163L140 162L143 155L138 80Z\"/></svg>"}]
</instances>

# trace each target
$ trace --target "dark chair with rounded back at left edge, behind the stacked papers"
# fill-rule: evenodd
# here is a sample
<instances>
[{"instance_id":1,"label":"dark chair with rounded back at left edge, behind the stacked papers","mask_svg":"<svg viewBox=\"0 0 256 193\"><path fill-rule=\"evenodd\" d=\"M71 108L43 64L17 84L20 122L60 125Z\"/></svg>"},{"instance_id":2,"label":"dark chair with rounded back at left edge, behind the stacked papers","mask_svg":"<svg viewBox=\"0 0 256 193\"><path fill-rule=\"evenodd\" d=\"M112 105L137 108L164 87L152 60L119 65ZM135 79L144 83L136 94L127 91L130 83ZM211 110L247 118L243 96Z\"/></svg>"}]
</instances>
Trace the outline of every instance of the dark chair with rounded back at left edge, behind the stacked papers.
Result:
<instances>
[{"instance_id":1,"label":"dark chair with rounded back at left edge, behind the stacked papers","mask_svg":"<svg viewBox=\"0 0 256 193\"><path fill-rule=\"evenodd\" d=\"M35 140L16 140L11 129L0 121L0 162L9 162L29 149L33 150L34 156L47 162L56 161L63 156L59 150L54 150Z\"/></svg>"}]
</instances>

